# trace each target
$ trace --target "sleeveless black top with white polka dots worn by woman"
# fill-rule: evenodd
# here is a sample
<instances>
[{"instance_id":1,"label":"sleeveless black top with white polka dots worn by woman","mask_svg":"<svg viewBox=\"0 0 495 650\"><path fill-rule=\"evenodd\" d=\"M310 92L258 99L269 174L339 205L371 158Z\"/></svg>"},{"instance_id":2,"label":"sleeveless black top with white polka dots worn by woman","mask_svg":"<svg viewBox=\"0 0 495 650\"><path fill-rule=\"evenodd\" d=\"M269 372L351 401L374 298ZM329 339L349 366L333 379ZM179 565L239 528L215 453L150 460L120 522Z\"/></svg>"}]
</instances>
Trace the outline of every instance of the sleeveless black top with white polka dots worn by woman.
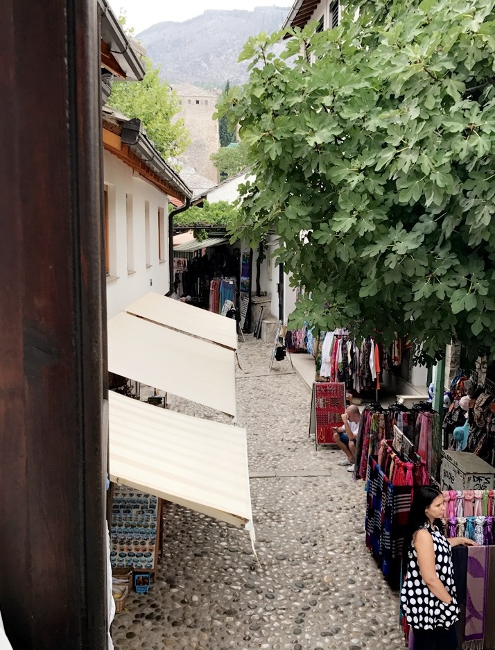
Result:
<instances>
[{"instance_id":1,"label":"sleeveless black top with white polka dots worn by woman","mask_svg":"<svg viewBox=\"0 0 495 650\"><path fill-rule=\"evenodd\" d=\"M449 628L459 618L459 608L455 598L453 580L451 545L436 527L425 525L433 538L435 548L435 566L437 576L452 597L447 605L437 598L426 586L419 572L417 554L414 542L411 541L408 551L408 570L401 589L401 608L406 621L412 628L433 630Z\"/></svg>"}]
</instances>

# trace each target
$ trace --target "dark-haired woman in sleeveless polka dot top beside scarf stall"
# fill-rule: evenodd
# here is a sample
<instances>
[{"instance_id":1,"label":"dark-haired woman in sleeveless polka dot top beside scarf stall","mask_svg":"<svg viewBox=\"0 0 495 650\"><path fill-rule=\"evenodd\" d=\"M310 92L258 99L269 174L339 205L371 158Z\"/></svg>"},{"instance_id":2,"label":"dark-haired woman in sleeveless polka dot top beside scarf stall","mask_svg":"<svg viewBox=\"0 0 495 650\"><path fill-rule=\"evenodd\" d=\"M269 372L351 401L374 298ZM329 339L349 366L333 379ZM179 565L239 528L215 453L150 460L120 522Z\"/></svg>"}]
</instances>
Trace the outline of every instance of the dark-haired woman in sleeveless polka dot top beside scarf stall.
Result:
<instances>
[{"instance_id":1,"label":"dark-haired woman in sleeveless polka dot top beside scarf stall","mask_svg":"<svg viewBox=\"0 0 495 650\"><path fill-rule=\"evenodd\" d=\"M459 608L451 547L475 542L465 537L446 539L438 526L444 516L444 497L438 490L415 490L404 545L407 574L401 590L401 607L414 632L415 650L455 650L458 646L454 624Z\"/></svg>"}]
</instances>

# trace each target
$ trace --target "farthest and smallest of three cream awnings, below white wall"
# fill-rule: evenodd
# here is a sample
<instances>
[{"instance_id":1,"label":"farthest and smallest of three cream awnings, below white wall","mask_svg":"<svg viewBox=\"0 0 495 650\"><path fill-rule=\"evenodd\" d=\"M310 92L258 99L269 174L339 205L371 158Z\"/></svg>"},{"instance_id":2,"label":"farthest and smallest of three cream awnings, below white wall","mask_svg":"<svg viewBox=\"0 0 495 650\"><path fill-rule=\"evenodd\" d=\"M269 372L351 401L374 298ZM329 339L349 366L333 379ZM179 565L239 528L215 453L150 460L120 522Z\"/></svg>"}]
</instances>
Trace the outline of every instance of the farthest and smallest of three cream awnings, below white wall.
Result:
<instances>
[{"instance_id":1,"label":"farthest and smallest of three cream awnings, below white wall","mask_svg":"<svg viewBox=\"0 0 495 650\"><path fill-rule=\"evenodd\" d=\"M237 350L236 321L233 318L225 318L153 292L132 302L125 311L153 320L164 327L173 327L174 330L218 343L230 350Z\"/></svg>"}]
</instances>

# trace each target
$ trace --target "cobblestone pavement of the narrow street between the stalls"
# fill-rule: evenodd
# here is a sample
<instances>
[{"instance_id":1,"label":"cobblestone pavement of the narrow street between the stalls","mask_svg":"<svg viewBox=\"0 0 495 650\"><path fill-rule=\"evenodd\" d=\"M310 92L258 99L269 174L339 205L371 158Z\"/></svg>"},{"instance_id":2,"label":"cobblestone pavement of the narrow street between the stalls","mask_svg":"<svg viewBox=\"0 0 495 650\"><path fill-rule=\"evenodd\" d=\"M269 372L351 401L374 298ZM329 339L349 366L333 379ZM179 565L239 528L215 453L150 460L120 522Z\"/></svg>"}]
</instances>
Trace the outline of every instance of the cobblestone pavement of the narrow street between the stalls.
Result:
<instances>
[{"instance_id":1,"label":"cobblestone pavement of the narrow street between the stalls","mask_svg":"<svg viewBox=\"0 0 495 650\"><path fill-rule=\"evenodd\" d=\"M270 350L249 336L237 379L261 566L247 533L168 504L157 582L116 615L117 650L404 647L397 594L365 547L363 483L337 464L341 452L315 450L309 391L287 360L268 374Z\"/></svg>"}]
</instances>

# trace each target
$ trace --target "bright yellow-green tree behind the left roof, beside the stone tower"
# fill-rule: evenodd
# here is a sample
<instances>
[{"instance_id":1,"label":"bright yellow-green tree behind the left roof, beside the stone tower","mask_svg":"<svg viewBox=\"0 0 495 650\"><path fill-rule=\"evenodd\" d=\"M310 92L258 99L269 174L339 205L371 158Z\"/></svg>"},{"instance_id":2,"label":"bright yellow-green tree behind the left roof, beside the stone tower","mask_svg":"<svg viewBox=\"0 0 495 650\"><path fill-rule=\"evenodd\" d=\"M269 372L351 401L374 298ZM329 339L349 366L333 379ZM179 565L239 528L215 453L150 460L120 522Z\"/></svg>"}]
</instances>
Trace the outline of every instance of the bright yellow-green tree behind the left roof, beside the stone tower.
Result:
<instances>
[{"instance_id":1,"label":"bright yellow-green tree behind the left roof, beside the stone tower","mask_svg":"<svg viewBox=\"0 0 495 650\"><path fill-rule=\"evenodd\" d=\"M159 78L159 67L146 59L146 75L139 82L116 81L108 99L126 117L139 118L146 135L165 160L180 155L191 142L184 120L177 118L177 94Z\"/></svg>"}]
</instances>

